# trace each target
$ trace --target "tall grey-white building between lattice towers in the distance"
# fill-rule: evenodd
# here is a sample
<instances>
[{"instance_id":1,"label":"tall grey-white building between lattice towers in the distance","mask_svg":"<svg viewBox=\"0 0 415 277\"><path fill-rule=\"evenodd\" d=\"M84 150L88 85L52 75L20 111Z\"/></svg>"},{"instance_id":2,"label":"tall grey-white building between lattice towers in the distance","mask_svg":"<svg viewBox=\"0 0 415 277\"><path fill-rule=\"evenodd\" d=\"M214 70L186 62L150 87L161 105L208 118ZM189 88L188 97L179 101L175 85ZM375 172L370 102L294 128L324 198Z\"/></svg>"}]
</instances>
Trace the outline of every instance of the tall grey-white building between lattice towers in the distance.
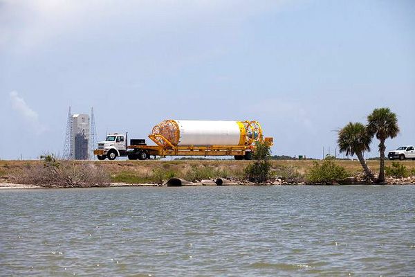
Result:
<instances>
[{"instance_id":1,"label":"tall grey-white building between lattice towers in the distance","mask_svg":"<svg viewBox=\"0 0 415 277\"><path fill-rule=\"evenodd\" d=\"M72 115L72 153L71 156L76 160L89 159L89 115Z\"/></svg>"}]
</instances>

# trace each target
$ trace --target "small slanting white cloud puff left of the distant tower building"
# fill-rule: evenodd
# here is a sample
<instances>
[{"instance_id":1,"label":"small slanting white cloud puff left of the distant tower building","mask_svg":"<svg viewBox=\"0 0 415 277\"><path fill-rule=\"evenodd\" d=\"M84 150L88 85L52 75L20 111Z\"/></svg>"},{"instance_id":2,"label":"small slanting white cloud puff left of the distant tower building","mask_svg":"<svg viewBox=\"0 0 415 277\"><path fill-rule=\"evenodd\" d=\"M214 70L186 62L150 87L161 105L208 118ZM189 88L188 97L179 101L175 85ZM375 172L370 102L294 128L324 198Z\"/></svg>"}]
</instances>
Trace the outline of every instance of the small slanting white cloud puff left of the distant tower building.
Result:
<instances>
[{"instance_id":1,"label":"small slanting white cloud puff left of the distant tower building","mask_svg":"<svg viewBox=\"0 0 415 277\"><path fill-rule=\"evenodd\" d=\"M19 96L17 91L10 92L10 100L12 101L12 108L17 111L17 113L24 118L26 123L35 129L37 134L41 134L46 131L46 127L40 123L39 115L36 111L28 106L24 98Z\"/></svg>"}]
</instances>

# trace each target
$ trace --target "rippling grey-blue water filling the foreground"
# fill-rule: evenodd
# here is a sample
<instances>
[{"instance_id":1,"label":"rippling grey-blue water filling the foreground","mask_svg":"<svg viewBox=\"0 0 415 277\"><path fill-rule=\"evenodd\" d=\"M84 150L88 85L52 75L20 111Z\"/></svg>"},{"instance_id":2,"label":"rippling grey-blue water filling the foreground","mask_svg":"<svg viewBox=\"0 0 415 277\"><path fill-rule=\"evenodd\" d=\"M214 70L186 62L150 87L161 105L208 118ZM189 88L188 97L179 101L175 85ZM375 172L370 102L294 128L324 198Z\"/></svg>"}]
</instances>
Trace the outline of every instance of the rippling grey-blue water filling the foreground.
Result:
<instances>
[{"instance_id":1,"label":"rippling grey-blue water filling the foreground","mask_svg":"<svg viewBox=\"0 0 415 277\"><path fill-rule=\"evenodd\" d=\"M0 191L2 276L414 276L415 186Z\"/></svg>"}]
</instances>

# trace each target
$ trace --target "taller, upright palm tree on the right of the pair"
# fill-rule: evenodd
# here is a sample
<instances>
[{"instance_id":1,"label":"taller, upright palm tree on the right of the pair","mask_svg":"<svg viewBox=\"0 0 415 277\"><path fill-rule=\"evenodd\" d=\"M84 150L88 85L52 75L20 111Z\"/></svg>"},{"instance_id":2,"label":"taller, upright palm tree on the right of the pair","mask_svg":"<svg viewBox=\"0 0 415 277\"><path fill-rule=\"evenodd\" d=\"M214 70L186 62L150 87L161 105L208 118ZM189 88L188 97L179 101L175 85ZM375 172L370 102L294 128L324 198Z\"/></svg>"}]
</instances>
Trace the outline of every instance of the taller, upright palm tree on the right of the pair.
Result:
<instances>
[{"instance_id":1,"label":"taller, upright palm tree on the right of the pair","mask_svg":"<svg viewBox=\"0 0 415 277\"><path fill-rule=\"evenodd\" d=\"M378 182L385 181L385 141L388 138L394 139L399 133L398 118L396 114L391 112L389 108L374 109L369 116L367 116L367 132L370 136L375 136L380 141L380 166Z\"/></svg>"}]
</instances>

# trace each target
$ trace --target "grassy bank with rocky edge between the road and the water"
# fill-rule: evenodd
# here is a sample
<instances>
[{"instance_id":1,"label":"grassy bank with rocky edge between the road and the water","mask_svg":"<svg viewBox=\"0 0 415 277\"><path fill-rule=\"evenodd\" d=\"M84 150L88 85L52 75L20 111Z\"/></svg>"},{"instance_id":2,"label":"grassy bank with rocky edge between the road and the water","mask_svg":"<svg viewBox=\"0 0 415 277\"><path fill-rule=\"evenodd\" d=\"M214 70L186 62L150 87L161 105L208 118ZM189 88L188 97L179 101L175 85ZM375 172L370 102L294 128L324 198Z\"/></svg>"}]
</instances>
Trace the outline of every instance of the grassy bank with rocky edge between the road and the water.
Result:
<instances>
[{"instance_id":1,"label":"grassy bank with rocky edge between the road and the water","mask_svg":"<svg viewBox=\"0 0 415 277\"><path fill-rule=\"evenodd\" d=\"M0 161L0 189L26 189L26 188L50 188L50 186L37 186L27 184L26 181L12 179L10 176L16 172L28 172L28 169L36 169L42 166L43 161ZM101 184L100 187L153 187L166 186L169 178L183 180L182 186L216 186L215 180L224 177L223 186L336 186L346 184L370 185L365 181L362 168L358 161L335 160L334 163L347 170L349 177L331 184L307 183L306 172L313 168L313 160L273 160L270 161L272 177L266 184L253 184L243 177L243 170L250 164L250 161L199 161L199 160L176 160L176 161L73 161L75 166L84 168L89 166L96 170L107 173L109 180L105 183L91 181L86 184ZM378 161L368 161L374 174L378 174ZM409 172L415 172L415 161L399 162L404 165ZM391 161L385 161L385 166L391 166ZM37 172L40 174L40 172ZM185 181L191 180L194 181ZM195 181L201 180L201 181ZM42 184L33 183L33 184ZM107 185L105 185L107 184ZM385 184L401 185L415 184L415 175L410 177L396 178L387 177ZM172 184L174 186L174 184ZM340 185L340 186L341 186ZM82 185L81 185L82 186ZM61 186L53 186L59 188ZM86 186L89 187L89 186Z\"/></svg>"}]
</instances>

